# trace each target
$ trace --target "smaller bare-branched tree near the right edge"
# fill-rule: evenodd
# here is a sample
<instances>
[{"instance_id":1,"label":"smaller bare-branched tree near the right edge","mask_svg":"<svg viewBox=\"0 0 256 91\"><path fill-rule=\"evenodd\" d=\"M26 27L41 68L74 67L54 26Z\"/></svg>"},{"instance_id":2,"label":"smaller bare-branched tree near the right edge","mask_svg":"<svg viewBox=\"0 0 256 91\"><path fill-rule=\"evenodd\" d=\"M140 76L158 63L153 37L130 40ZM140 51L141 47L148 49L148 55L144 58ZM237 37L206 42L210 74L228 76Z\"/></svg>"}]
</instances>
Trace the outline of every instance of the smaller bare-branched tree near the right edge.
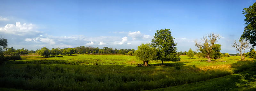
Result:
<instances>
[{"instance_id":1,"label":"smaller bare-branched tree near the right edge","mask_svg":"<svg viewBox=\"0 0 256 91\"><path fill-rule=\"evenodd\" d=\"M244 39L239 40L239 42L236 42L236 40L234 41L234 44L232 45L232 47L236 48L236 51L240 52L240 56L241 56L241 61L244 61L245 59L245 49L249 48L249 41L246 41ZM242 52L244 51L244 53L242 54Z\"/></svg>"}]
</instances>

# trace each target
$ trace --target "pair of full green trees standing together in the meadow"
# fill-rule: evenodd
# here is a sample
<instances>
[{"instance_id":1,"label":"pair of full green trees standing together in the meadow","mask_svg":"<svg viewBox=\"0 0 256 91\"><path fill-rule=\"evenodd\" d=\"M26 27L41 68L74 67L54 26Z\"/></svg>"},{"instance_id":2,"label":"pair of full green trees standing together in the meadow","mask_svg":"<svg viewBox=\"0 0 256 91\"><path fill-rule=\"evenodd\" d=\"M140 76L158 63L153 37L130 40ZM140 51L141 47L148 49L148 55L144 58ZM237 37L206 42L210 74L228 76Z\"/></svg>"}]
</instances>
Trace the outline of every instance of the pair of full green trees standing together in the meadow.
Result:
<instances>
[{"instance_id":1,"label":"pair of full green trees standing together in the meadow","mask_svg":"<svg viewBox=\"0 0 256 91\"><path fill-rule=\"evenodd\" d=\"M148 66L150 60L180 61L180 56L176 55L177 43L171 36L170 29L157 30L151 44L141 44L135 51L135 56Z\"/></svg>"}]
</instances>

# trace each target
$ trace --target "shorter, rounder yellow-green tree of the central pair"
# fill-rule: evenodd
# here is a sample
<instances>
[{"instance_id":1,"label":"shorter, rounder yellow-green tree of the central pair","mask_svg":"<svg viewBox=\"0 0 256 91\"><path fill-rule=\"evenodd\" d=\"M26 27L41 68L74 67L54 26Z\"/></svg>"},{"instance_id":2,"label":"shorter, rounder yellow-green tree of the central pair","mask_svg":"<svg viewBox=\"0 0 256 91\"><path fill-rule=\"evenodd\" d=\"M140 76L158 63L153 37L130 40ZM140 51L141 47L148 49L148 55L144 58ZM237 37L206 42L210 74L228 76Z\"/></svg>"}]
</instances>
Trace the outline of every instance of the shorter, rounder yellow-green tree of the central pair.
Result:
<instances>
[{"instance_id":1,"label":"shorter, rounder yellow-green tree of the central pair","mask_svg":"<svg viewBox=\"0 0 256 91\"><path fill-rule=\"evenodd\" d=\"M148 66L148 61L153 60L156 57L156 52L156 48L149 43L142 43L138 46L138 50L136 50L134 54L136 58L144 62L145 66Z\"/></svg>"}]
</instances>

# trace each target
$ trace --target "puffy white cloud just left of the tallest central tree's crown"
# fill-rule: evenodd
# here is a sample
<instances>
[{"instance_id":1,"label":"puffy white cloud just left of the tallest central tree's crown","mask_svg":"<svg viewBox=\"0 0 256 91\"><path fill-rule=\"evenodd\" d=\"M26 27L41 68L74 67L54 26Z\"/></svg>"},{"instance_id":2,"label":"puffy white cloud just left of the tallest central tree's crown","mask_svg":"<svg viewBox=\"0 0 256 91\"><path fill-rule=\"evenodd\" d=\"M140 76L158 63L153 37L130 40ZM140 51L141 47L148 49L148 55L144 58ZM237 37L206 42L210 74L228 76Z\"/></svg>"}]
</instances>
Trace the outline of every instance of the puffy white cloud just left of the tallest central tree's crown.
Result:
<instances>
[{"instance_id":1,"label":"puffy white cloud just left of the tallest central tree's crown","mask_svg":"<svg viewBox=\"0 0 256 91\"><path fill-rule=\"evenodd\" d=\"M152 39L152 37L150 35L142 34L140 31L129 32L128 35L131 36L133 40Z\"/></svg>"}]
</instances>

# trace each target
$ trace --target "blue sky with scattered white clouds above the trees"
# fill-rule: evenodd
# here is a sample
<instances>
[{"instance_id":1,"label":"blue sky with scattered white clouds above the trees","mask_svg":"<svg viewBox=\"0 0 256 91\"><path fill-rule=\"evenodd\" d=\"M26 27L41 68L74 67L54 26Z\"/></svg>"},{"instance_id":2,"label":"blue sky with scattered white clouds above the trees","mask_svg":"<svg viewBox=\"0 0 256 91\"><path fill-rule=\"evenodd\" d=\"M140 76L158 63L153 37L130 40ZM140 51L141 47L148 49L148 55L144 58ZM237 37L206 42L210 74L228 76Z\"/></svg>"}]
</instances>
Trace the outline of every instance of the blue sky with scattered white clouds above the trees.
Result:
<instances>
[{"instance_id":1,"label":"blue sky with scattered white clouds above the trees","mask_svg":"<svg viewBox=\"0 0 256 91\"><path fill-rule=\"evenodd\" d=\"M0 36L28 50L93 46L137 49L157 30L170 29L177 52L196 51L195 40L220 34L222 53L232 48L255 0L1 0ZM249 50L249 49L248 49ZM248 50L246 50L248 52Z\"/></svg>"}]
</instances>

